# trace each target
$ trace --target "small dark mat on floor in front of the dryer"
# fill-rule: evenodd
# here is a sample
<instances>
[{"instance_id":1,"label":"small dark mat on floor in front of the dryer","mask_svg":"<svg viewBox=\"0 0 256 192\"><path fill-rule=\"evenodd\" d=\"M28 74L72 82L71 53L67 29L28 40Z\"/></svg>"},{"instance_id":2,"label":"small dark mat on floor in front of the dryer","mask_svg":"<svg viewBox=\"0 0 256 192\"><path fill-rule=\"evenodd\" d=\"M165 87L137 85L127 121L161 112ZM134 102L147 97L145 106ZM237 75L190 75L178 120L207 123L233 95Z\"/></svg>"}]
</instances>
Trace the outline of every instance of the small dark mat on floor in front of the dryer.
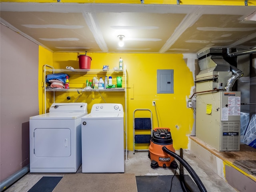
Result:
<instances>
[{"instance_id":1,"label":"small dark mat on floor in front of the dryer","mask_svg":"<svg viewBox=\"0 0 256 192\"><path fill-rule=\"evenodd\" d=\"M42 177L28 192L52 192L62 177Z\"/></svg>"}]
</instances>

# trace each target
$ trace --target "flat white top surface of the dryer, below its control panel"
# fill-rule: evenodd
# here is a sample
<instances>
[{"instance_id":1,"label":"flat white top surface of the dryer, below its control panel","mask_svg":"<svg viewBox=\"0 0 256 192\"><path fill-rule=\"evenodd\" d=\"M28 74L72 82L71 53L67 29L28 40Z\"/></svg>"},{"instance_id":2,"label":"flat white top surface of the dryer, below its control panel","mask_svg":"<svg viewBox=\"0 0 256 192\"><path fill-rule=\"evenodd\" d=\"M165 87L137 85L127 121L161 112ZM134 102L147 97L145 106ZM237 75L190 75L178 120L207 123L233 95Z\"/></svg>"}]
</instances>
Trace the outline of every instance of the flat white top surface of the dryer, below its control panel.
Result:
<instances>
[{"instance_id":1,"label":"flat white top surface of the dryer, below its control panel","mask_svg":"<svg viewBox=\"0 0 256 192\"><path fill-rule=\"evenodd\" d=\"M36 116L32 116L30 117L30 120L34 120L34 119L51 119L51 120L56 120L56 119L65 119L65 120L75 120L77 118L81 118L82 116L88 114L86 113L46 113L46 114L42 114L42 115L36 115Z\"/></svg>"}]
</instances>

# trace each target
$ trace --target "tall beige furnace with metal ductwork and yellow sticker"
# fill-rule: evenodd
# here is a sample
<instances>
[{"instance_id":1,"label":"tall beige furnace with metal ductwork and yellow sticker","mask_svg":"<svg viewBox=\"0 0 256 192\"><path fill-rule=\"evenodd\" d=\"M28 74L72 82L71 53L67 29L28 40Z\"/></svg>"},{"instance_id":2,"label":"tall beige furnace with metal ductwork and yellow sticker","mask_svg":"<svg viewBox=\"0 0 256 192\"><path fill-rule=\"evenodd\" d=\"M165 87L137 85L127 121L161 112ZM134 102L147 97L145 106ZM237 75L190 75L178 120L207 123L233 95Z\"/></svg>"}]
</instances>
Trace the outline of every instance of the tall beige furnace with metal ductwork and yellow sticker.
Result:
<instances>
[{"instance_id":1,"label":"tall beige furnace with metal ductwork and yellow sticker","mask_svg":"<svg viewBox=\"0 0 256 192\"><path fill-rule=\"evenodd\" d=\"M198 54L196 137L218 151L239 151L241 94L230 86L242 73L221 54L221 49Z\"/></svg>"}]
</instances>

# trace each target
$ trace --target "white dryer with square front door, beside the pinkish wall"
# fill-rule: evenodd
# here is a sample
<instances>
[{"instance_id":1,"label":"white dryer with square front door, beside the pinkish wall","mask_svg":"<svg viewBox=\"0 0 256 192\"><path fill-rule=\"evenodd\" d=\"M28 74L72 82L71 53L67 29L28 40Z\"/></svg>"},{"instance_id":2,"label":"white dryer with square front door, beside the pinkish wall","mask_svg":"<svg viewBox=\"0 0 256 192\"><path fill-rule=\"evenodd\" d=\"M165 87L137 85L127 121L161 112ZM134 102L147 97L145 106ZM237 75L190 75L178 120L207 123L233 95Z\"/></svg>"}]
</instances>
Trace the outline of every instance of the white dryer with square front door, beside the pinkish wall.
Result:
<instances>
[{"instance_id":1,"label":"white dryer with square front door, beside the pinkish wall","mask_svg":"<svg viewBox=\"0 0 256 192\"><path fill-rule=\"evenodd\" d=\"M86 103L53 103L30 117L30 172L74 173L82 162L81 117Z\"/></svg>"}]
</instances>

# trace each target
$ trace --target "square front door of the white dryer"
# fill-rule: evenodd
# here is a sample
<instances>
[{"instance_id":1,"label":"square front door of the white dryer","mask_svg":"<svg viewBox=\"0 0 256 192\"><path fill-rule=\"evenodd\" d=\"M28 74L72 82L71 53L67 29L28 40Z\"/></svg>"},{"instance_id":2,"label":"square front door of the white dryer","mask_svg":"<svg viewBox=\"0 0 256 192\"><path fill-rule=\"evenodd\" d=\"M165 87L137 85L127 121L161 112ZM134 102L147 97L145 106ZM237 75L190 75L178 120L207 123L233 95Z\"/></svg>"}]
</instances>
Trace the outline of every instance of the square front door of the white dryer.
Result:
<instances>
[{"instance_id":1,"label":"square front door of the white dryer","mask_svg":"<svg viewBox=\"0 0 256 192\"><path fill-rule=\"evenodd\" d=\"M69 157L70 129L37 128L34 130L34 154L36 157Z\"/></svg>"}]
</instances>

